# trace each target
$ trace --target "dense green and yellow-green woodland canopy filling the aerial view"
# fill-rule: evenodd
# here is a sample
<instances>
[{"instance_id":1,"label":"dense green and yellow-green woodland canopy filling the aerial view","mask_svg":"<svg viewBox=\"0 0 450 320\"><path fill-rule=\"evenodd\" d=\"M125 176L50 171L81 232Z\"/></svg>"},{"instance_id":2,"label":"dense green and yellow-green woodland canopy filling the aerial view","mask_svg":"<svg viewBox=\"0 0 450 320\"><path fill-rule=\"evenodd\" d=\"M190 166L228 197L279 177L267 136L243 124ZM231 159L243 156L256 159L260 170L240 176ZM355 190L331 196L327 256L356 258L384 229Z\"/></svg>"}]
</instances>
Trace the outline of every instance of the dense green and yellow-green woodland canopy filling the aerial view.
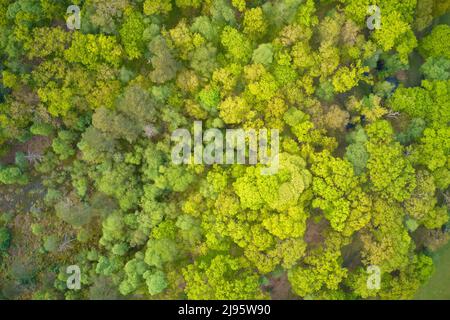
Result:
<instances>
[{"instance_id":1,"label":"dense green and yellow-green woodland canopy filling the aerial view","mask_svg":"<svg viewBox=\"0 0 450 320\"><path fill-rule=\"evenodd\" d=\"M0 0L0 297L412 298L448 240L450 4L375 2ZM199 120L278 129L278 172L174 164Z\"/></svg>"}]
</instances>

